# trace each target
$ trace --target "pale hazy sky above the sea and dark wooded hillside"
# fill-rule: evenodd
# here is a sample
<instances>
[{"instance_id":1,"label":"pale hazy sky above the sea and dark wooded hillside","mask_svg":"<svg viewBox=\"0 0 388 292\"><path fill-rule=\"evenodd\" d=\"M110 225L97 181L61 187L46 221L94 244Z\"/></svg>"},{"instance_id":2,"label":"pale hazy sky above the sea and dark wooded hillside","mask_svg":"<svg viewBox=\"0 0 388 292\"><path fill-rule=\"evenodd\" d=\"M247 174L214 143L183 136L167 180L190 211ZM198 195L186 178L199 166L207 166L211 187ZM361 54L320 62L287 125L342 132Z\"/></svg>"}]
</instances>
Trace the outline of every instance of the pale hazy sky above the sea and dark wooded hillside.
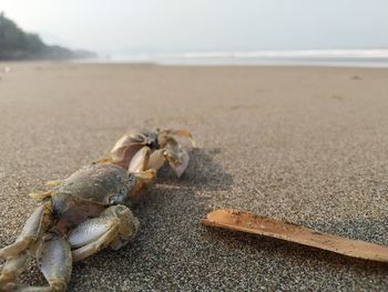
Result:
<instances>
[{"instance_id":1,"label":"pale hazy sky above the sea and dark wooded hillside","mask_svg":"<svg viewBox=\"0 0 388 292\"><path fill-rule=\"evenodd\" d=\"M388 48L388 0L0 0L48 42L102 53Z\"/></svg>"}]
</instances>

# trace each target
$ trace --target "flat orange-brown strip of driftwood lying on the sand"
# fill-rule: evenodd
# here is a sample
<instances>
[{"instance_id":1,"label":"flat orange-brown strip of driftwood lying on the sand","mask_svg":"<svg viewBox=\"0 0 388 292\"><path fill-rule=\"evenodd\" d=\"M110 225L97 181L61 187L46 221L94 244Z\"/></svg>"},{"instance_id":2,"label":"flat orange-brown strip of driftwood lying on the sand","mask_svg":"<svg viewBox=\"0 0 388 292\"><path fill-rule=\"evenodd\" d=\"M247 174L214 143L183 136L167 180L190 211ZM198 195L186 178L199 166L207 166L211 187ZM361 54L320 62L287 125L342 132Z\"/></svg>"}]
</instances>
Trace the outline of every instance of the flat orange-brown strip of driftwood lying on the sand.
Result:
<instances>
[{"instance_id":1,"label":"flat orange-brown strip of driftwood lying on the sand","mask_svg":"<svg viewBox=\"0 0 388 292\"><path fill-rule=\"evenodd\" d=\"M388 262L388 246L320 233L297 224L243 211L216 210L208 213L206 219L202 220L202 224L270 236L353 258Z\"/></svg>"}]
</instances>

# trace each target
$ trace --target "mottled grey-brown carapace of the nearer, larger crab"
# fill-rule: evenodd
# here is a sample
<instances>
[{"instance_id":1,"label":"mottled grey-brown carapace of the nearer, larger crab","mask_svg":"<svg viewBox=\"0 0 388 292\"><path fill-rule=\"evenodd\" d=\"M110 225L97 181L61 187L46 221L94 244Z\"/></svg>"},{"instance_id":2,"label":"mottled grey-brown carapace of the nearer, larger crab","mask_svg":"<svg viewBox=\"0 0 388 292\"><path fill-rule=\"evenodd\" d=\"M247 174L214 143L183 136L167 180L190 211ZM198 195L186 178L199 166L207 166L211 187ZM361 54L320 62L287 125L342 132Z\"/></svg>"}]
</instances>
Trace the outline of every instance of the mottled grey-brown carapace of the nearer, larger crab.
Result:
<instances>
[{"instance_id":1,"label":"mottled grey-brown carapace of the nearer, larger crab","mask_svg":"<svg viewBox=\"0 0 388 292\"><path fill-rule=\"evenodd\" d=\"M72 228L98 217L106 207L127 204L136 179L115 164L90 164L81 168L54 190L54 218Z\"/></svg>"}]
</instances>

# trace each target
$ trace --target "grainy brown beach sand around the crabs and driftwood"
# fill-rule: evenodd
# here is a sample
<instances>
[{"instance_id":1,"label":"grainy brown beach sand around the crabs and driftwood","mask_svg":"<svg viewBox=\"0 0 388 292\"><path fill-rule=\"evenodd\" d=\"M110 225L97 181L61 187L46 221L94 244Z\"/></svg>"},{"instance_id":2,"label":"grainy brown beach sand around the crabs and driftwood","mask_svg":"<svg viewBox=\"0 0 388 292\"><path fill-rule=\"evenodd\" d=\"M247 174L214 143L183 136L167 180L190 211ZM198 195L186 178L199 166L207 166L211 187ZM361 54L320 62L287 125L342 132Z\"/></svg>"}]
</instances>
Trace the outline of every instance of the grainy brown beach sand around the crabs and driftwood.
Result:
<instances>
[{"instance_id":1,"label":"grainy brown beach sand around the crabs and driftwood","mask_svg":"<svg viewBox=\"0 0 388 292\"><path fill-rule=\"evenodd\" d=\"M29 192L126 129L200 145L133 209L135 242L74 265L69 291L388 290L387 264L200 225L235 208L388 244L387 69L0 63L0 246ZM33 263L21 280L44 284Z\"/></svg>"}]
</instances>

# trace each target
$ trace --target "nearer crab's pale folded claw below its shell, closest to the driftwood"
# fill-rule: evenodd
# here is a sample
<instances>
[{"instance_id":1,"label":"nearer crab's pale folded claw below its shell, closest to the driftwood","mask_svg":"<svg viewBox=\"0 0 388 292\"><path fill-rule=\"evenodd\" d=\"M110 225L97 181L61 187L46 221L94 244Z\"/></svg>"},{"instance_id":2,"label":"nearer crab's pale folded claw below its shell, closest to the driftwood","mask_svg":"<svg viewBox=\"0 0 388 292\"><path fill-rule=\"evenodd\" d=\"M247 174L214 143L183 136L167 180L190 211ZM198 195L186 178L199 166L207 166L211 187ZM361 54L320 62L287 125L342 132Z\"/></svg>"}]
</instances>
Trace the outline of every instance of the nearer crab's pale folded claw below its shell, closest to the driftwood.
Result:
<instances>
[{"instance_id":1,"label":"nearer crab's pale folded claw below its shell, closest to the driftwood","mask_svg":"<svg viewBox=\"0 0 388 292\"><path fill-rule=\"evenodd\" d=\"M73 261L81 261L104 248L118 250L129 243L136 234L137 219L124 205L112 205L99 218L78 225L69 234Z\"/></svg>"}]
</instances>

